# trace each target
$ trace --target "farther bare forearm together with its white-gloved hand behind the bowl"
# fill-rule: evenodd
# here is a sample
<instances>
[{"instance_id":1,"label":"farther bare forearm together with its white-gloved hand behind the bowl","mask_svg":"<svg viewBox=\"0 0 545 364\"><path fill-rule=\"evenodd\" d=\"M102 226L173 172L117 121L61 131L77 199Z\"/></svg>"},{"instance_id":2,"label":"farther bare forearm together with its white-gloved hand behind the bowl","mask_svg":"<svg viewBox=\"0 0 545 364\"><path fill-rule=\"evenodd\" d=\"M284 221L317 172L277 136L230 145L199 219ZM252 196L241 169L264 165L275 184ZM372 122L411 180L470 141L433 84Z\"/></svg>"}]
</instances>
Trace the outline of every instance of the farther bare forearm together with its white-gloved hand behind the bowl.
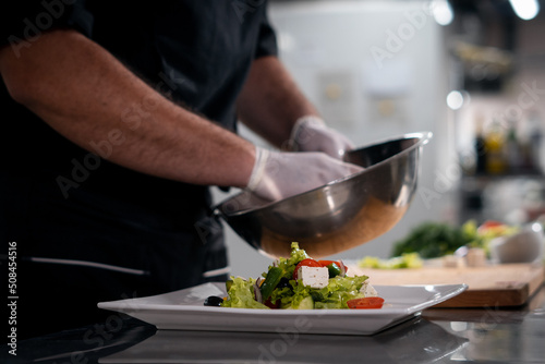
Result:
<instances>
[{"instance_id":1,"label":"farther bare forearm together with its white-gloved hand behind the bowl","mask_svg":"<svg viewBox=\"0 0 545 364\"><path fill-rule=\"evenodd\" d=\"M254 61L238 100L240 120L270 144L294 151L324 151L341 159L352 143L327 128L276 57Z\"/></svg>"}]
</instances>

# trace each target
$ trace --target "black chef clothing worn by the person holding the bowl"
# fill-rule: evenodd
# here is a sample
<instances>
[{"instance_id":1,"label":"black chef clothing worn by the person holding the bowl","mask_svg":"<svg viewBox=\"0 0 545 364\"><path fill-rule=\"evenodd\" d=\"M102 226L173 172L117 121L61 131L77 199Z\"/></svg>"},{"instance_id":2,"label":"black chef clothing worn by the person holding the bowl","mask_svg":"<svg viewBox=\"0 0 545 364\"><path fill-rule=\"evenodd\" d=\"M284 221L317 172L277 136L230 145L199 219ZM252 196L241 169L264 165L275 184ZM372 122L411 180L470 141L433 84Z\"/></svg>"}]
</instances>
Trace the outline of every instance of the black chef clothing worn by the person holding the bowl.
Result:
<instances>
[{"instance_id":1,"label":"black chef clothing worn by the person holding the bowl","mask_svg":"<svg viewBox=\"0 0 545 364\"><path fill-rule=\"evenodd\" d=\"M173 101L234 130L252 61L276 53L266 5L12 1L2 7L0 40L17 54L44 32L74 28ZM102 157L122 145L108 138L80 148L13 101L3 83L0 106L0 241L17 246L20 338L107 319L99 301L226 278L208 187L113 165ZM146 112L153 105L141 100L120 118L129 130Z\"/></svg>"}]
</instances>

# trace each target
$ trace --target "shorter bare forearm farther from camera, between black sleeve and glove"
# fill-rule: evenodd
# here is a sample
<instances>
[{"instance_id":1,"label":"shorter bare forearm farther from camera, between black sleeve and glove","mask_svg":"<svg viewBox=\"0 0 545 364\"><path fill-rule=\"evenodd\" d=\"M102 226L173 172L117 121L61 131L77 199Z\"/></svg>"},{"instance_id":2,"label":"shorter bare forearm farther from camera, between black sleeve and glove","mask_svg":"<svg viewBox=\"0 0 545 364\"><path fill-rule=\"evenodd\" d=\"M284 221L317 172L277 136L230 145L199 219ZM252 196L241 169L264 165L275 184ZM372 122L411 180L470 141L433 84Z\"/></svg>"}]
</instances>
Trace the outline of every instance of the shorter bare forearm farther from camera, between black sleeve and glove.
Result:
<instances>
[{"instance_id":1,"label":"shorter bare forearm farther from camera, between black sleeve and glove","mask_svg":"<svg viewBox=\"0 0 545 364\"><path fill-rule=\"evenodd\" d=\"M278 147L299 118L318 114L276 57L254 61L237 106L241 121Z\"/></svg>"}]
</instances>

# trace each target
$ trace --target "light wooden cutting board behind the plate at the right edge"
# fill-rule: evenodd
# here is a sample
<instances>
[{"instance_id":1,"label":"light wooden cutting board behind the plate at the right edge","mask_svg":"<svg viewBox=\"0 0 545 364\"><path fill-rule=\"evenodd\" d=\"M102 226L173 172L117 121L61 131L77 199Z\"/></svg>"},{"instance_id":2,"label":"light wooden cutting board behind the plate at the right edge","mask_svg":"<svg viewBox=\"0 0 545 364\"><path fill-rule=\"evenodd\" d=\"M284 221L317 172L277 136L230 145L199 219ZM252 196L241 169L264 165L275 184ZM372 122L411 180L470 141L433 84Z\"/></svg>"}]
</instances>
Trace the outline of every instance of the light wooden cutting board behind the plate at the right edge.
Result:
<instances>
[{"instance_id":1,"label":"light wooden cutting board behind the plate at the right edge","mask_svg":"<svg viewBox=\"0 0 545 364\"><path fill-rule=\"evenodd\" d=\"M434 307L500 307L523 305L544 282L543 264L483 267L370 269L349 265L350 275L365 275L373 286L468 284L468 290Z\"/></svg>"}]
</instances>

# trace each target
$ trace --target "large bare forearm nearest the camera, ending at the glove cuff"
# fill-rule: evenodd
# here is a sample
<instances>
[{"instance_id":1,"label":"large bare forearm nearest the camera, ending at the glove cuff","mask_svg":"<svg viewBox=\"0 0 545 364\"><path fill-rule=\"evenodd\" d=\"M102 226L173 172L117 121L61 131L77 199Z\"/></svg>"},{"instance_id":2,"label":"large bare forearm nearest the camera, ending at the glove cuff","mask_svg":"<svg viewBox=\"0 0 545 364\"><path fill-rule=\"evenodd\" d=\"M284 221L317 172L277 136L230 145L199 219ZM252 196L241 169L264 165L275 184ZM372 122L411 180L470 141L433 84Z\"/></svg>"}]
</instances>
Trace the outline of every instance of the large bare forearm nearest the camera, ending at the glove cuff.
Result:
<instances>
[{"instance_id":1,"label":"large bare forearm nearest the camera, ending at the glove cuff","mask_svg":"<svg viewBox=\"0 0 545 364\"><path fill-rule=\"evenodd\" d=\"M117 132L112 162L187 183L247 183L251 143L162 97L76 32L45 34L20 58L1 49L0 73L15 100L83 148Z\"/></svg>"}]
</instances>

